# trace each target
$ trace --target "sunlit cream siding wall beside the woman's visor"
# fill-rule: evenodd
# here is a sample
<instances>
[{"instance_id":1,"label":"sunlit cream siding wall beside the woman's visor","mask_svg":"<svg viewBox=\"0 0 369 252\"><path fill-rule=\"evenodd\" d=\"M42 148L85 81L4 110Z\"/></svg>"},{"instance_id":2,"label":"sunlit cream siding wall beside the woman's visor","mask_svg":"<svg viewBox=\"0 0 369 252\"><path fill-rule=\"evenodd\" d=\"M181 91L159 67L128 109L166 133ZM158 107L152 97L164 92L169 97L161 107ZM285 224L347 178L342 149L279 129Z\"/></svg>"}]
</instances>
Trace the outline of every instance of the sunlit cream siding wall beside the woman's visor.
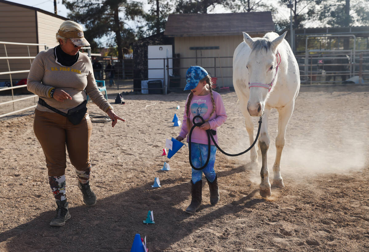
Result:
<instances>
[{"instance_id":1,"label":"sunlit cream siding wall beside the woman's visor","mask_svg":"<svg viewBox=\"0 0 369 252\"><path fill-rule=\"evenodd\" d=\"M60 25L64 21L65 20L61 18L53 17L37 11L38 42L42 44L47 44L48 47L55 47L56 45L58 45L55 36ZM43 50L45 50L45 48L40 46L39 51Z\"/></svg>"}]
</instances>

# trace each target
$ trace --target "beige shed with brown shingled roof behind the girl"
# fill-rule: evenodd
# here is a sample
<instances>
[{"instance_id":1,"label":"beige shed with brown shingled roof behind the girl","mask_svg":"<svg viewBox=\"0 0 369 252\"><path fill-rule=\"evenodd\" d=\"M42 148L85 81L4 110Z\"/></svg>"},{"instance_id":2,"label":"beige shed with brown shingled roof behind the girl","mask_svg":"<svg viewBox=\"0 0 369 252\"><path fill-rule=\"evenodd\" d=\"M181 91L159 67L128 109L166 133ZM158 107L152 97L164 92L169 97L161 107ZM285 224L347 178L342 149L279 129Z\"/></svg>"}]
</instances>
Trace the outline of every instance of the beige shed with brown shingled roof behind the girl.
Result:
<instances>
[{"instance_id":1,"label":"beige shed with brown shingled roof behind the girl","mask_svg":"<svg viewBox=\"0 0 369 252\"><path fill-rule=\"evenodd\" d=\"M180 57L181 86L186 69L200 65L217 84L232 86L232 57L243 41L242 31L262 37L275 26L270 11L224 14L171 14L164 35L174 37L174 54ZM179 55L178 55L179 54ZM223 76L223 78L222 78Z\"/></svg>"}]
</instances>

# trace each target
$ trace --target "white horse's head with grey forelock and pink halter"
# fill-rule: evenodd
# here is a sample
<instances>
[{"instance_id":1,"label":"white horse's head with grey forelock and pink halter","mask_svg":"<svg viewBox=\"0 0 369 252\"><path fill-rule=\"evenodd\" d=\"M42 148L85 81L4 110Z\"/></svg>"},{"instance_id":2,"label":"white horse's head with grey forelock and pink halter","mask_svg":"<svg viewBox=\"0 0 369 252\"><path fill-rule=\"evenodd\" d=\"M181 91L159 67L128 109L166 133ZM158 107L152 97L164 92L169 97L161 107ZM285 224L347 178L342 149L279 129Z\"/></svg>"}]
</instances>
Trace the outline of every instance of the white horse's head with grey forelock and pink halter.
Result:
<instances>
[{"instance_id":1,"label":"white horse's head with grey forelock and pink halter","mask_svg":"<svg viewBox=\"0 0 369 252\"><path fill-rule=\"evenodd\" d=\"M268 36L254 40L247 33L243 34L244 41L251 48L251 54L246 62L250 88L247 110L251 116L261 116L281 60L280 55L277 56L277 46L283 41L286 32L274 40L269 40Z\"/></svg>"}]
</instances>

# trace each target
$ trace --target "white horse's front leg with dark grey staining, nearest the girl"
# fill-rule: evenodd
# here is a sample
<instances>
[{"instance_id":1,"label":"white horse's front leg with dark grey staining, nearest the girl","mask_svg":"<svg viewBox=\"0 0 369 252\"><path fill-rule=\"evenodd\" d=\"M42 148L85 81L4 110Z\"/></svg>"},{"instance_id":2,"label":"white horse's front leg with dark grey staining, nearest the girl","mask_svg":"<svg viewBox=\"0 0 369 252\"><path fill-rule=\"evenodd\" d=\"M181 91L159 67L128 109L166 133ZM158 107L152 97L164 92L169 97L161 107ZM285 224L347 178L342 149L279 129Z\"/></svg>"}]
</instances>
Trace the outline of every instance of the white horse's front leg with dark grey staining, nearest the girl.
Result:
<instances>
[{"instance_id":1,"label":"white horse's front leg with dark grey staining, nearest the girl","mask_svg":"<svg viewBox=\"0 0 369 252\"><path fill-rule=\"evenodd\" d=\"M261 183L260 183L260 195L261 197L269 197L272 194L269 183L269 170L268 170L268 149L269 149L269 136L268 136L268 117L270 109L264 109L263 122L261 124L259 146L261 150L262 166L260 171Z\"/></svg>"}]
</instances>

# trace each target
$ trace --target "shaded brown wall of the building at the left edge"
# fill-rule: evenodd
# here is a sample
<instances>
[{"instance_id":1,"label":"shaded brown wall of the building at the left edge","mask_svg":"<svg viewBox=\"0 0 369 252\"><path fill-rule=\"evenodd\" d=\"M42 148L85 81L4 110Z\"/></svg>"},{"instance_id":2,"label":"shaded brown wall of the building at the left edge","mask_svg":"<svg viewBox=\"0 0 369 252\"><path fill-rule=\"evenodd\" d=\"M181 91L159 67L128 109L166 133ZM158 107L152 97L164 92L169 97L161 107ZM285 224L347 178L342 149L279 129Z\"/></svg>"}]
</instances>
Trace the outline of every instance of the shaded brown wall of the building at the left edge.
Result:
<instances>
[{"instance_id":1,"label":"shaded brown wall of the building at the left edge","mask_svg":"<svg viewBox=\"0 0 369 252\"><path fill-rule=\"evenodd\" d=\"M0 41L37 43L35 11L20 6L0 2ZM6 45L8 57L28 56L24 45ZM31 56L37 54L36 46L30 47ZM0 56L5 57L4 45L0 45ZM28 70L29 59L10 59L10 70ZM7 72L5 59L0 60L0 72ZM27 78L28 74L13 74L14 79ZM9 79L8 75L0 75L0 79Z\"/></svg>"}]
</instances>

